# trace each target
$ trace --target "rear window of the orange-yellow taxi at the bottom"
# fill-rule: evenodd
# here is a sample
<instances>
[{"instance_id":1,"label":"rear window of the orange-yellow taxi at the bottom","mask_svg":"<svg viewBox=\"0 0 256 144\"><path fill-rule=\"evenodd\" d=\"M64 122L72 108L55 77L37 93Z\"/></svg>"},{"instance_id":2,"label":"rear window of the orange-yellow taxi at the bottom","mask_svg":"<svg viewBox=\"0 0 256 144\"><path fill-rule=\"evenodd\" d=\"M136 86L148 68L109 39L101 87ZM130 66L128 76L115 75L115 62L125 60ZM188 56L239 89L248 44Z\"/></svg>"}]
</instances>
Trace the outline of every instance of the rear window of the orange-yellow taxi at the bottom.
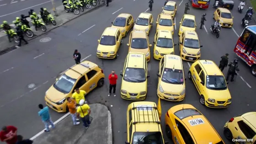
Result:
<instances>
[{"instance_id":1,"label":"rear window of the orange-yellow taxi at the bottom","mask_svg":"<svg viewBox=\"0 0 256 144\"><path fill-rule=\"evenodd\" d=\"M175 112L174 115L176 115L176 117L179 117L180 119L184 119L186 117L197 116L202 114L198 112L196 109L187 108Z\"/></svg>"}]
</instances>

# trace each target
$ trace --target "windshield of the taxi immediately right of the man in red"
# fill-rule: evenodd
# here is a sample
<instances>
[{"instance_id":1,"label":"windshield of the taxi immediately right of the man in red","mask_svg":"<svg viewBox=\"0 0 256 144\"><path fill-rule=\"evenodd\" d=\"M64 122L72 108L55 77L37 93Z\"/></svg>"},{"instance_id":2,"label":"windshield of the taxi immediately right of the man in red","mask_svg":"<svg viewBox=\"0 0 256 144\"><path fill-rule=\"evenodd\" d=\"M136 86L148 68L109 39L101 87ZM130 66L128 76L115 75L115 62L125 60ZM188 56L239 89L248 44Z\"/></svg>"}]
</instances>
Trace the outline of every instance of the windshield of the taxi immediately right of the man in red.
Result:
<instances>
[{"instance_id":1,"label":"windshield of the taxi immediately right of the man in red","mask_svg":"<svg viewBox=\"0 0 256 144\"><path fill-rule=\"evenodd\" d=\"M141 83L146 81L145 69L142 68L126 68L123 80L128 82Z\"/></svg>"}]
</instances>

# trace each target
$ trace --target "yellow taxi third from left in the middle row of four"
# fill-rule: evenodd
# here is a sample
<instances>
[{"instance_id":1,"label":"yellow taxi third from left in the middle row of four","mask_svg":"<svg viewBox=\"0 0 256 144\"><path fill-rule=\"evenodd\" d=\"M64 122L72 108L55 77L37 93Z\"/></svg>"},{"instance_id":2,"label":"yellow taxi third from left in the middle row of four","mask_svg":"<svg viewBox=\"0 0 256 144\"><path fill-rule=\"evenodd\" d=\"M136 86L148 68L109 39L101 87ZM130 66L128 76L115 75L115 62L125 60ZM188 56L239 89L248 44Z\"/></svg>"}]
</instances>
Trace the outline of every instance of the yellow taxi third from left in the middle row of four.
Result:
<instances>
[{"instance_id":1,"label":"yellow taxi third from left in the middle row of four","mask_svg":"<svg viewBox=\"0 0 256 144\"><path fill-rule=\"evenodd\" d=\"M171 31L158 30L155 33L154 59L162 59L165 54L174 54L174 46Z\"/></svg>"}]
</instances>

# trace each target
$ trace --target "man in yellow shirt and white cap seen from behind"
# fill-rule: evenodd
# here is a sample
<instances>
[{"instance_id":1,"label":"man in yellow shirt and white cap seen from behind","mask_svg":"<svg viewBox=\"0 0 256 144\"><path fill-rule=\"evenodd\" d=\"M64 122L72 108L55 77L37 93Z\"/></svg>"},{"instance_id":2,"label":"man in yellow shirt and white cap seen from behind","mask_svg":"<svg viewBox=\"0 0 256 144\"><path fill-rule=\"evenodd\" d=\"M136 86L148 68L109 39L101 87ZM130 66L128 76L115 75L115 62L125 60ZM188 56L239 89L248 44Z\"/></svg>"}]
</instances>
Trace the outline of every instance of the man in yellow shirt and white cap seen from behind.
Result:
<instances>
[{"instance_id":1,"label":"man in yellow shirt and white cap seen from behind","mask_svg":"<svg viewBox=\"0 0 256 144\"><path fill-rule=\"evenodd\" d=\"M88 128L91 125L90 122L90 114L91 114L91 109L88 104L85 104L85 100L80 100L79 102L80 106L77 107L77 117L81 117L82 122L84 123L84 127Z\"/></svg>"}]
</instances>

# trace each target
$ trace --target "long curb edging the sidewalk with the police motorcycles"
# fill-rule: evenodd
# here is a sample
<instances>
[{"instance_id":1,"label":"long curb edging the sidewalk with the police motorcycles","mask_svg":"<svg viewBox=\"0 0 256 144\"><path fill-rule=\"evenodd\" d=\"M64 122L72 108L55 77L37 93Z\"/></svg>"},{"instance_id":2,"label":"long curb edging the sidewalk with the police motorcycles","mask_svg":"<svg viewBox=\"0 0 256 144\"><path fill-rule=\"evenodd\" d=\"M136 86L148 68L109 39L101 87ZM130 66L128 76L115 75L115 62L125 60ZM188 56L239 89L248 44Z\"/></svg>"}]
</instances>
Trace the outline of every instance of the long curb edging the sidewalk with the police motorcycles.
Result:
<instances>
[{"instance_id":1,"label":"long curb edging the sidewalk with the police motorcycles","mask_svg":"<svg viewBox=\"0 0 256 144\"><path fill-rule=\"evenodd\" d=\"M102 3L102 4L100 4L99 6L96 6L96 7L92 8L92 9L89 9L88 11L85 11L84 13L82 13L82 14L80 14L80 15L78 15L78 16L75 16L75 17L73 17L72 19L70 19L69 21L72 21L72 20L74 20L74 19L76 19L76 18L78 18L78 17L80 17L80 16L83 16L84 14L89 13L89 12L91 12L91 11L93 11L93 10L96 10L96 9L102 7L103 5L105 5L105 3ZM59 24L58 26L53 27L53 28L49 29L49 30L46 31L46 32L43 32L43 33L41 33L41 34L38 34L38 35L36 35L35 37L32 37L31 39L28 39L27 41L30 41L30 40L32 40L32 39L35 39L35 38L39 37L39 36L42 36L43 34L47 34L48 32L54 30L55 28L58 28L58 27L64 25L65 23L67 23L67 22L69 22L69 21L65 21L64 23L61 23L61 24ZM5 48L4 50L1 50L0 53L9 53L9 52L12 51L11 49L12 49L13 47L16 47L17 45L18 45L18 44L15 44L15 45L13 45L13 46L11 46L11 47ZM15 49L16 49L16 48L14 48L13 50L15 50Z\"/></svg>"}]
</instances>

